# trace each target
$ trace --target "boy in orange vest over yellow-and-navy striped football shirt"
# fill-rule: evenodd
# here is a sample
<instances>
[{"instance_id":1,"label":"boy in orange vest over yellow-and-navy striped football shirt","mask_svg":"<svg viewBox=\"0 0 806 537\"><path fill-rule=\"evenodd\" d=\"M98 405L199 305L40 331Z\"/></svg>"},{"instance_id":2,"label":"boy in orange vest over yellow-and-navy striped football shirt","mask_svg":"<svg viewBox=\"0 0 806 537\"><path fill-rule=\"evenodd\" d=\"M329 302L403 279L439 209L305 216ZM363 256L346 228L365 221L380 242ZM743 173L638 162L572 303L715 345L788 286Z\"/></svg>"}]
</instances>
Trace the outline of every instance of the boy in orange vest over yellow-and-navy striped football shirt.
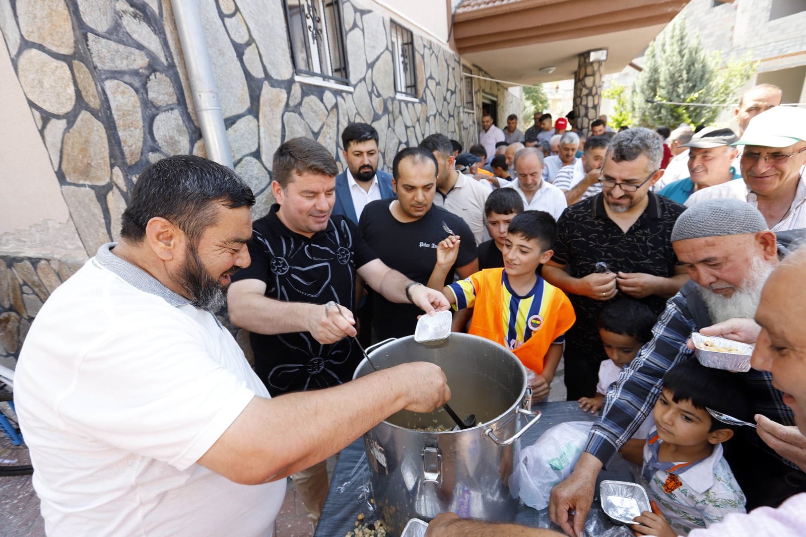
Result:
<instances>
[{"instance_id":1,"label":"boy in orange vest over yellow-and-navy striped football shirt","mask_svg":"<svg viewBox=\"0 0 806 537\"><path fill-rule=\"evenodd\" d=\"M518 214L507 231L503 269L485 269L442 289L440 282L459 252L459 237L451 235L438 244L437 264L428 281L430 287L442 289L455 310L474 308L468 333L501 343L534 372L530 387L538 401L548 397L563 356L565 332L576 320L565 293L535 273L551 259L556 237L557 223L550 214Z\"/></svg>"}]
</instances>

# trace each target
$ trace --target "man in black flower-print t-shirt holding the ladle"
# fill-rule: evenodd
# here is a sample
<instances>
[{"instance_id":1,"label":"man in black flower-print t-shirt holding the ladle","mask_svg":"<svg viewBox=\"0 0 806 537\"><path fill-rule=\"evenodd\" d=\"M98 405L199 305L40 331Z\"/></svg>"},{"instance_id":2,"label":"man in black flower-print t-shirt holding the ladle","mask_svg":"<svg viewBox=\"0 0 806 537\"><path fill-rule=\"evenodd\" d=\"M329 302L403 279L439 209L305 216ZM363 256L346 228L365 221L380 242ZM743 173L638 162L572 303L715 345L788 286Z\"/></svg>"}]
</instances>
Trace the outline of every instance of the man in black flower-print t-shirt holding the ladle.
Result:
<instances>
[{"instance_id":1,"label":"man in black flower-print t-shirt holding the ladle","mask_svg":"<svg viewBox=\"0 0 806 537\"><path fill-rule=\"evenodd\" d=\"M356 275L378 295L411 302L419 313L449 306L442 293L377 259L355 224L330 218L339 170L322 145L290 139L274 154L272 171L278 203L253 223L251 264L233 275L227 305L232 323L251 332L255 371L274 397L352 378L362 356L347 337L356 333ZM327 494L325 462L293 479L315 523Z\"/></svg>"}]
</instances>

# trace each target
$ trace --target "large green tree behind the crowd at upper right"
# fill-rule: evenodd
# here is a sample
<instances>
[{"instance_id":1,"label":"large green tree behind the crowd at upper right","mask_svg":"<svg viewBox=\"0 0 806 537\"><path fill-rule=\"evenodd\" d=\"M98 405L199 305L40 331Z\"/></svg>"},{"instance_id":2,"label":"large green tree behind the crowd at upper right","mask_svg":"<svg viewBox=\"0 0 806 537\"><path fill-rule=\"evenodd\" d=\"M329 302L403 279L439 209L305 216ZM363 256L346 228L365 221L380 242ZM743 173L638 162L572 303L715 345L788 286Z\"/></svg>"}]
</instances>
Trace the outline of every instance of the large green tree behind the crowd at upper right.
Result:
<instances>
[{"instance_id":1,"label":"large green tree behind the crowd at upper right","mask_svg":"<svg viewBox=\"0 0 806 537\"><path fill-rule=\"evenodd\" d=\"M685 20L675 21L646 49L646 65L627 97L638 125L675 128L713 123L724 108L650 103L669 101L728 104L755 72L758 62L743 56L725 64L719 52L708 55L699 35L690 37Z\"/></svg>"}]
</instances>

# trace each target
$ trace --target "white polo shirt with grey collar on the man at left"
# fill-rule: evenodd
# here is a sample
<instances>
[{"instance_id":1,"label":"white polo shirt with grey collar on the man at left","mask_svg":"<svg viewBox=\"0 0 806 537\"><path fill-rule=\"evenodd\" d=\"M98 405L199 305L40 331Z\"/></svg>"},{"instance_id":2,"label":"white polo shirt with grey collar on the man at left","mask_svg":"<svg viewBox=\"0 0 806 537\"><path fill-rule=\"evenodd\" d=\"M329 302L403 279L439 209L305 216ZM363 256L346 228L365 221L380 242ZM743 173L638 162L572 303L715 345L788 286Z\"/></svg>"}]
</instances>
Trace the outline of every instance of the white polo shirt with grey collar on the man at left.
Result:
<instances>
[{"instance_id":1,"label":"white polo shirt with grey collar on the man at left","mask_svg":"<svg viewBox=\"0 0 806 537\"><path fill-rule=\"evenodd\" d=\"M272 535L285 480L238 485L197 464L268 391L213 314L112 247L48 298L15 372L45 530Z\"/></svg>"}]
</instances>

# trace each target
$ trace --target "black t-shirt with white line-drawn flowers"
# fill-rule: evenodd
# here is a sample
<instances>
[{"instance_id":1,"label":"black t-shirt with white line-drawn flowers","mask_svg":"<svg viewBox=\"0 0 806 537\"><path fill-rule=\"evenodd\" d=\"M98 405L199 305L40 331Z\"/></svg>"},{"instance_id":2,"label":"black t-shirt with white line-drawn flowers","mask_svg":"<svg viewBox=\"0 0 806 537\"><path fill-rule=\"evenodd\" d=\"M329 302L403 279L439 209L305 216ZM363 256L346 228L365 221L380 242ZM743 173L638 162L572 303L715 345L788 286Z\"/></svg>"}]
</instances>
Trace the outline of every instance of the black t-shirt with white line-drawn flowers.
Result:
<instances>
[{"instance_id":1,"label":"black t-shirt with white line-drawn flowers","mask_svg":"<svg viewBox=\"0 0 806 537\"><path fill-rule=\"evenodd\" d=\"M277 217L279 208L275 204L252 224L251 264L232 280L264 281L265 296L283 302L332 300L353 310L355 269L377 258L358 227L343 216L333 216L324 231L308 238L285 227ZM310 332L252 332L249 339L255 372L272 396L349 381L362 356L351 338L322 345Z\"/></svg>"}]
</instances>

